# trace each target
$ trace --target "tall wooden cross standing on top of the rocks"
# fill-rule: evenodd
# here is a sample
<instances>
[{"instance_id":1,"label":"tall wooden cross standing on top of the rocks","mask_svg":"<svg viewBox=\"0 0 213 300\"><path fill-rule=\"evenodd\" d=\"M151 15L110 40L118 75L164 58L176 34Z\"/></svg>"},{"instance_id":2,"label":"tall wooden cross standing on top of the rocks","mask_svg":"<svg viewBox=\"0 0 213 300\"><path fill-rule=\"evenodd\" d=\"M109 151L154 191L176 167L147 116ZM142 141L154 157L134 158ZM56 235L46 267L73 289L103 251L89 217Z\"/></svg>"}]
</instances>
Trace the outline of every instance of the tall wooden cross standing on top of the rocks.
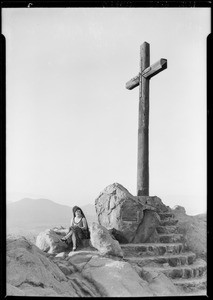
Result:
<instances>
[{"instance_id":1,"label":"tall wooden cross standing on top of the rocks","mask_svg":"<svg viewBox=\"0 0 213 300\"><path fill-rule=\"evenodd\" d=\"M140 46L140 72L126 83L128 90L139 85L137 195L149 196L149 80L167 68L161 58L150 66L149 44Z\"/></svg>"}]
</instances>

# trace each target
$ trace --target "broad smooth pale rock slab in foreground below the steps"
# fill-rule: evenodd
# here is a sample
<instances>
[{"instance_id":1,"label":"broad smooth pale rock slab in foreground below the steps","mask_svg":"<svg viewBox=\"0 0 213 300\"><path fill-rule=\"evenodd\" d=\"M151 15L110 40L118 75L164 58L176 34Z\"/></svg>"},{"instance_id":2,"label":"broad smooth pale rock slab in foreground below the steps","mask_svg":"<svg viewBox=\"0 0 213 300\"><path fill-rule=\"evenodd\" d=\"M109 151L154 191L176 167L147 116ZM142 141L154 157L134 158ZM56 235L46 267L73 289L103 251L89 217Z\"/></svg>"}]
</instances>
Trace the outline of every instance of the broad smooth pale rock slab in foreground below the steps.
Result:
<instances>
[{"instance_id":1,"label":"broad smooth pale rock slab in foreground below the steps","mask_svg":"<svg viewBox=\"0 0 213 300\"><path fill-rule=\"evenodd\" d=\"M93 256L82 275L99 287L104 297L177 296L179 290L164 274L136 272L122 260Z\"/></svg>"}]
</instances>

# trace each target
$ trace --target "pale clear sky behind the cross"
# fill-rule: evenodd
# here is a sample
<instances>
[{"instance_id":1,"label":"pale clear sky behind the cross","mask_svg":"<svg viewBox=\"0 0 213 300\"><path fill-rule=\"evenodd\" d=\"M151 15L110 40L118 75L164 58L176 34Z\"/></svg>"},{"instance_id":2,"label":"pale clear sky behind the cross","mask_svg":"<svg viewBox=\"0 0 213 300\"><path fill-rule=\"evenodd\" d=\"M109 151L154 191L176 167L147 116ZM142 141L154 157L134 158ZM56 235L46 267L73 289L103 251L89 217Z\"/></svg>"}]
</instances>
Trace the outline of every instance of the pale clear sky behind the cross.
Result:
<instances>
[{"instance_id":1,"label":"pale clear sky behind the cross","mask_svg":"<svg viewBox=\"0 0 213 300\"><path fill-rule=\"evenodd\" d=\"M206 212L206 38L210 8L4 8L6 197L95 204L137 194L140 45L150 64L149 190Z\"/></svg>"}]
</instances>

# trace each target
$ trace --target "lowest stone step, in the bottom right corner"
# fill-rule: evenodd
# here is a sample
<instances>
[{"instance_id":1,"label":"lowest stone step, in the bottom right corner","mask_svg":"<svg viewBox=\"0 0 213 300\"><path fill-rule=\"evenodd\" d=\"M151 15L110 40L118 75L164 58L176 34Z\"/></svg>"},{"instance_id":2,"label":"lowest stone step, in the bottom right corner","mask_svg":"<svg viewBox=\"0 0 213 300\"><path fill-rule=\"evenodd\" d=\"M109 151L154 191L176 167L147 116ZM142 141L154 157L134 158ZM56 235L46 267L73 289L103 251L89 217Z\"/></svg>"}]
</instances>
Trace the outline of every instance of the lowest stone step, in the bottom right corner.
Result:
<instances>
[{"instance_id":1,"label":"lowest stone step, in the bottom right corner","mask_svg":"<svg viewBox=\"0 0 213 300\"><path fill-rule=\"evenodd\" d=\"M185 292L206 289L206 275L191 279L173 279L172 281L175 285L182 287Z\"/></svg>"}]
</instances>

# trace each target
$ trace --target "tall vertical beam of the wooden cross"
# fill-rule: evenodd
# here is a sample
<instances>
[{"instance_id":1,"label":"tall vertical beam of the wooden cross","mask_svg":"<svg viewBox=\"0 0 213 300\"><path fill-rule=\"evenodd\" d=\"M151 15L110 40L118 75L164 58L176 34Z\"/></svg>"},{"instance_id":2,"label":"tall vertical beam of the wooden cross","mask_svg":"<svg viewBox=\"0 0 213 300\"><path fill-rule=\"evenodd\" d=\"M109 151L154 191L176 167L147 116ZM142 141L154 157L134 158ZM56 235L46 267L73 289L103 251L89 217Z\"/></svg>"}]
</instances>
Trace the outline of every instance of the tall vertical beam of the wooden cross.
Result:
<instances>
[{"instance_id":1,"label":"tall vertical beam of the wooden cross","mask_svg":"<svg viewBox=\"0 0 213 300\"><path fill-rule=\"evenodd\" d=\"M140 47L137 195L149 195L149 79L142 72L149 67L150 48Z\"/></svg>"}]
</instances>

